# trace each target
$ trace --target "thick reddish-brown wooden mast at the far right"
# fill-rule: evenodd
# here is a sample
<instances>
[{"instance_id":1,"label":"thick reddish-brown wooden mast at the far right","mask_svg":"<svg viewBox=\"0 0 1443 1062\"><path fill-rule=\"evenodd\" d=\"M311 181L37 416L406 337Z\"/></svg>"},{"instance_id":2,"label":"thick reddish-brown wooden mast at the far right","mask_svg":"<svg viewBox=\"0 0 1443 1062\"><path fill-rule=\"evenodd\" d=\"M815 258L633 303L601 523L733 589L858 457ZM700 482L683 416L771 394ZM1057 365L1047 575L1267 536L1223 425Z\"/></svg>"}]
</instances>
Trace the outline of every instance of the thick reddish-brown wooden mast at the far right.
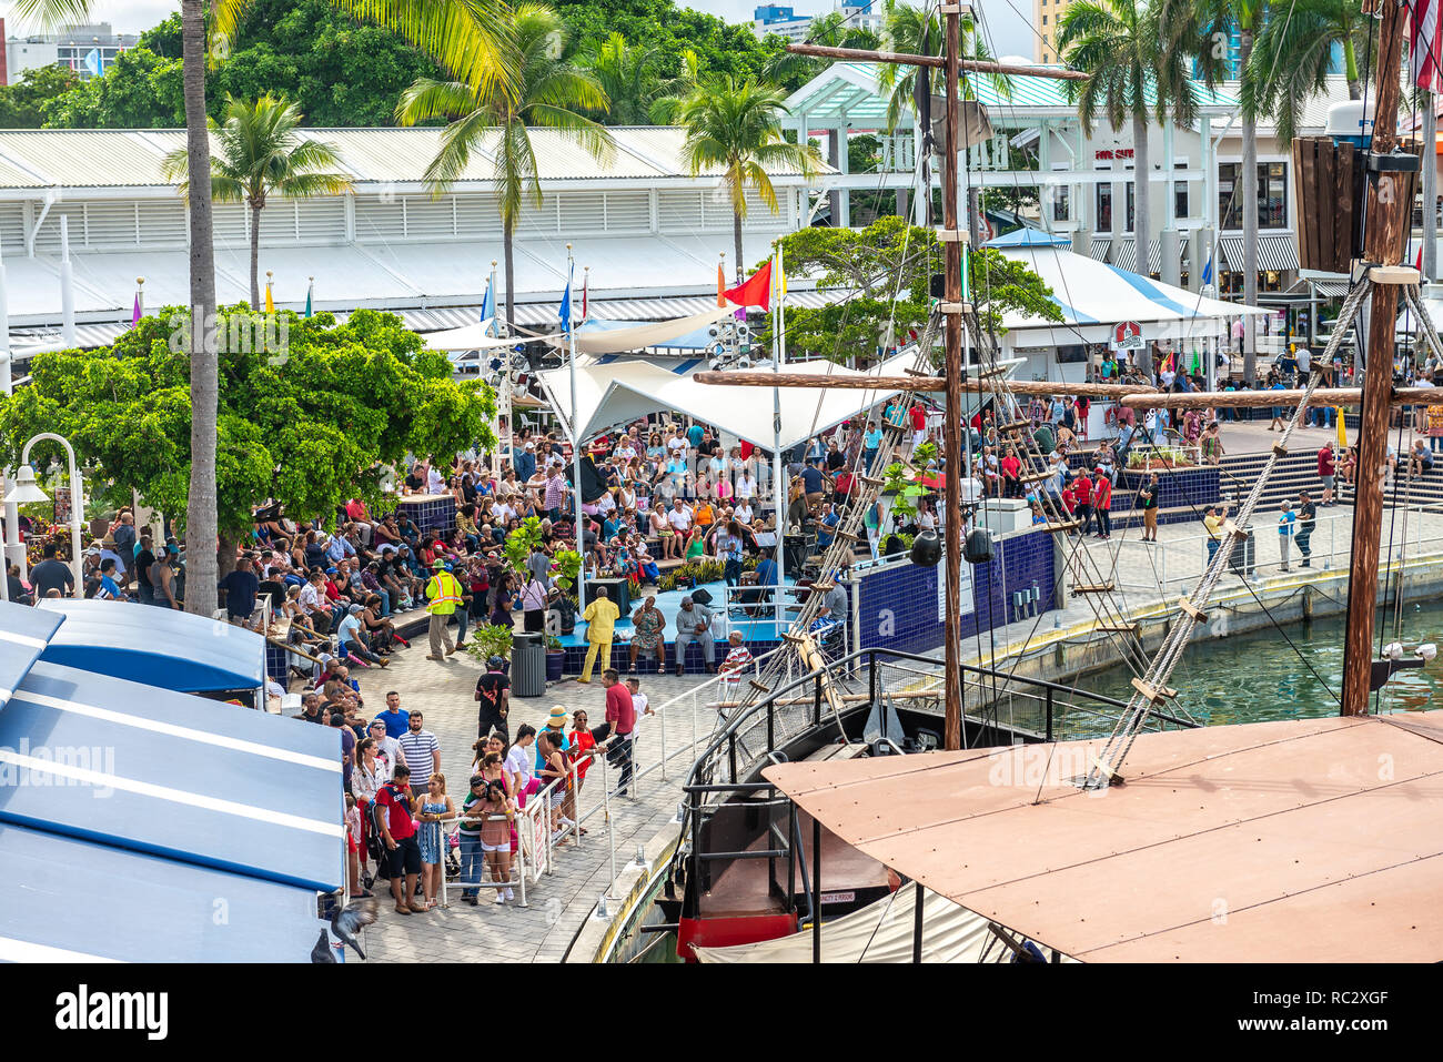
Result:
<instances>
[{"instance_id":1,"label":"thick reddish-brown wooden mast at the far right","mask_svg":"<svg viewBox=\"0 0 1443 1062\"><path fill-rule=\"evenodd\" d=\"M1398 66L1403 55L1403 4L1382 4L1378 27L1378 105L1372 126L1372 154L1387 154L1397 143ZM1365 3L1368 9L1371 4ZM1427 152L1424 166L1433 164ZM1407 215L1413 212L1407 175L1381 172L1368 182L1364 258L1372 266L1395 266L1403 253ZM1407 202L1405 202L1407 199ZM1427 209L1427 208L1426 208ZM1392 405L1392 335L1398 313L1397 284L1372 289L1368 323L1367 368L1362 384L1362 420L1358 427L1358 475L1354 501L1352 567L1348 576L1348 628L1343 642L1342 714L1368 713L1372 674L1374 613L1378 600L1378 544L1382 537L1382 478Z\"/></svg>"}]
</instances>

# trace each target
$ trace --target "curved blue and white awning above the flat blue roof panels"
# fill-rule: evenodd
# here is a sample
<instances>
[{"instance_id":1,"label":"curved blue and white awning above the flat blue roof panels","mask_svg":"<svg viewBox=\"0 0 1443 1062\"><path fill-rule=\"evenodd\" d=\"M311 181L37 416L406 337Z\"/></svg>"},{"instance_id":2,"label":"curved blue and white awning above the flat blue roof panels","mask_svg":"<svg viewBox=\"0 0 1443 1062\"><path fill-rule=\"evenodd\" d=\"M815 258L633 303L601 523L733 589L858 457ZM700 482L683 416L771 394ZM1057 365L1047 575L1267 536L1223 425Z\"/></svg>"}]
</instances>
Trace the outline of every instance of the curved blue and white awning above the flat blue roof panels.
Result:
<instances>
[{"instance_id":1,"label":"curved blue and white awning above the flat blue roof panels","mask_svg":"<svg viewBox=\"0 0 1443 1062\"><path fill-rule=\"evenodd\" d=\"M65 616L40 659L180 693L254 690L266 681L266 639L175 609L43 599Z\"/></svg>"}]
</instances>

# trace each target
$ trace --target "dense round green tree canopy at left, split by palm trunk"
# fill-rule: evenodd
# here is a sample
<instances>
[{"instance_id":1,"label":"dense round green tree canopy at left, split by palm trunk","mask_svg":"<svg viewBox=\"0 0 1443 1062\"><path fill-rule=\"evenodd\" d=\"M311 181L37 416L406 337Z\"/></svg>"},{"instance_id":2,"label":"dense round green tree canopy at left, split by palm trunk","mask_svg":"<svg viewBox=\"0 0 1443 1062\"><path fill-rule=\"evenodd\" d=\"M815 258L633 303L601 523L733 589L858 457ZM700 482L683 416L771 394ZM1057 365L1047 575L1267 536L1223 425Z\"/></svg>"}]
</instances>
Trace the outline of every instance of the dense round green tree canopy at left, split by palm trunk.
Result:
<instances>
[{"instance_id":1,"label":"dense round green tree canopy at left, split by palm trunk","mask_svg":"<svg viewBox=\"0 0 1443 1062\"><path fill-rule=\"evenodd\" d=\"M253 319L244 307L229 312ZM144 317L111 349L36 355L30 384L0 398L6 463L19 463L30 436L56 431L75 446L88 476L183 514L190 374L177 339L189 338L182 313L166 307ZM222 535L244 532L268 498L293 519L323 521L349 498L378 502L378 465L398 463L407 452L449 457L495 444L491 388L455 382L447 358L423 351L395 315L356 310L345 325L330 313L280 316L287 329L278 355L274 346L227 352L229 343L221 343ZM35 456L43 459L51 446L38 443Z\"/></svg>"}]
</instances>

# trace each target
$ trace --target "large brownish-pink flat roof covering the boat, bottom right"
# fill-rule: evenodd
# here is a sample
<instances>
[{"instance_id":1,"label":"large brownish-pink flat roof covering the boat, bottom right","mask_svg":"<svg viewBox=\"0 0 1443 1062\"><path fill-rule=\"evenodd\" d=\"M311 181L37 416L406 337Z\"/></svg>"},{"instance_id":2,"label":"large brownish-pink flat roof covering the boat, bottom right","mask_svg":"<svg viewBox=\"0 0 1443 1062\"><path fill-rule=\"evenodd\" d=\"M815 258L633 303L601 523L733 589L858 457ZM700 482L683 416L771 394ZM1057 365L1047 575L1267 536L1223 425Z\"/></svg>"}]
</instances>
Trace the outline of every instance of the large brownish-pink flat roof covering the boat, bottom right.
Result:
<instances>
[{"instance_id":1,"label":"large brownish-pink flat roof covering the boat, bottom right","mask_svg":"<svg viewBox=\"0 0 1443 1062\"><path fill-rule=\"evenodd\" d=\"M1443 958L1443 711L782 763L843 840L1089 962ZM821 869L823 889L827 867Z\"/></svg>"}]
</instances>

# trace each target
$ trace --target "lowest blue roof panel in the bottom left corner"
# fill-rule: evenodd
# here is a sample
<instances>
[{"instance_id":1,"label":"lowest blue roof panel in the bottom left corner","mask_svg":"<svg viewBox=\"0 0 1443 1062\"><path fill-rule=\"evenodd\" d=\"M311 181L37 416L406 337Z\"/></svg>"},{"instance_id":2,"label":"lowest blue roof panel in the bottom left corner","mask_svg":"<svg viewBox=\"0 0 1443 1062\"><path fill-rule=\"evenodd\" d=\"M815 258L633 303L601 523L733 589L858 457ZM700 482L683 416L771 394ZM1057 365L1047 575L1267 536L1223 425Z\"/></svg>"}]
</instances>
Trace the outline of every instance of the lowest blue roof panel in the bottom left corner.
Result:
<instances>
[{"instance_id":1,"label":"lowest blue roof panel in the bottom left corner","mask_svg":"<svg viewBox=\"0 0 1443 1062\"><path fill-rule=\"evenodd\" d=\"M0 866L4 961L309 962L323 926L309 889L17 825Z\"/></svg>"}]
</instances>

